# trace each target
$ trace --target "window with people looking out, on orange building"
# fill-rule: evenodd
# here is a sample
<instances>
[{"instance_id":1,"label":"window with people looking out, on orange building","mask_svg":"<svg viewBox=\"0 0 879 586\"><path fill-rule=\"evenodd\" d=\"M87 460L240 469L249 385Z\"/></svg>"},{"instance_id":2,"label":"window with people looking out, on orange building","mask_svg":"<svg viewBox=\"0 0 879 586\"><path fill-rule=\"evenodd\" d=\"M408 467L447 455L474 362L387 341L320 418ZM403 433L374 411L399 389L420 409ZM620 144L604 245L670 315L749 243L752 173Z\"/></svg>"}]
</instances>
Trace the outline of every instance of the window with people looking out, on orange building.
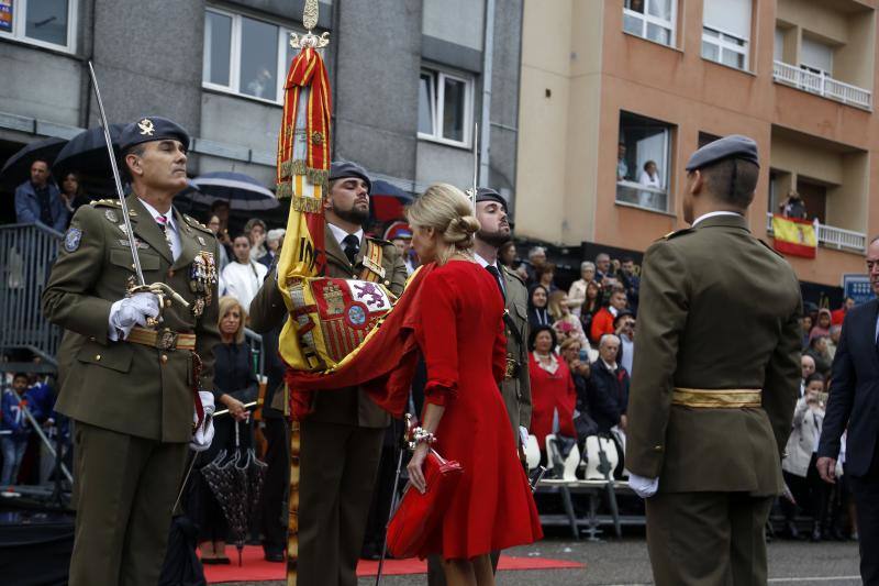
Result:
<instances>
[{"instance_id":1,"label":"window with people looking out, on orange building","mask_svg":"<svg viewBox=\"0 0 879 586\"><path fill-rule=\"evenodd\" d=\"M669 210L672 129L659 120L620 112L616 201L648 210Z\"/></svg>"}]
</instances>

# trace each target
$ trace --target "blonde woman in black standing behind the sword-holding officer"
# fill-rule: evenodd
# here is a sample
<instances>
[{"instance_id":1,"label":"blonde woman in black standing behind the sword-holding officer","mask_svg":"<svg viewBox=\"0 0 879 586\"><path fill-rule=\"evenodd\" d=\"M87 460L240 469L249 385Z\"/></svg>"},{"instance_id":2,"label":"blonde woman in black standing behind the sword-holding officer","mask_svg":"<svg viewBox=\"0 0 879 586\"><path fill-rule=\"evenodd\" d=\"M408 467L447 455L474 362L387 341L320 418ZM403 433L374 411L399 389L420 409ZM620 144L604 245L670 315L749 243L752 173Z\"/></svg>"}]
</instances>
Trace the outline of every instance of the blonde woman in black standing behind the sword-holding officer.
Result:
<instances>
[{"instance_id":1,"label":"blonde woman in black standing behind the sword-holding officer","mask_svg":"<svg viewBox=\"0 0 879 586\"><path fill-rule=\"evenodd\" d=\"M211 447L199 454L196 467L201 469L225 450L235 450L235 425L242 450L251 446L251 424L242 423L248 419L244 405L257 396L257 383L251 361L251 350L244 342L244 321L246 312L233 297L221 297L219 301L219 329L221 343L214 346L214 401L218 409L229 409L231 417L214 419L214 436ZM199 550L204 564L227 564L225 554L226 523L223 509L201 477L193 475L190 493L189 513L199 527Z\"/></svg>"}]
</instances>

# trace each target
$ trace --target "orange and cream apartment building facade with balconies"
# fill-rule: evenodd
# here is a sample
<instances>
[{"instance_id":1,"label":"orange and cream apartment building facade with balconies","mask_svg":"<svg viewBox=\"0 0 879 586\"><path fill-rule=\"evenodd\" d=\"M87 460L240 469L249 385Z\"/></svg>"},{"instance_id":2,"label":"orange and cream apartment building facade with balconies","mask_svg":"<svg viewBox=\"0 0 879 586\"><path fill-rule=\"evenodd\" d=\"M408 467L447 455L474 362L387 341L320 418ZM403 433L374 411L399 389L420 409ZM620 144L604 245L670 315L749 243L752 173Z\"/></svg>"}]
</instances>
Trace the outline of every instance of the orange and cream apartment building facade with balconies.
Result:
<instances>
[{"instance_id":1,"label":"orange and cream apartment building facade with balconies","mask_svg":"<svg viewBox=\"0 0 879 586\"><path fill-rule=\"evenodd\" d=\"M752 136L748 214L771 242L791 189L817 222L802 281L865 272L879 233L876 0L526 0L516 231L561 246L643 252L686 228L689 155ZM648 165L652 164L652 165ZM645 168L649 168L645 170Z\"/></svg>"}]
</instances>

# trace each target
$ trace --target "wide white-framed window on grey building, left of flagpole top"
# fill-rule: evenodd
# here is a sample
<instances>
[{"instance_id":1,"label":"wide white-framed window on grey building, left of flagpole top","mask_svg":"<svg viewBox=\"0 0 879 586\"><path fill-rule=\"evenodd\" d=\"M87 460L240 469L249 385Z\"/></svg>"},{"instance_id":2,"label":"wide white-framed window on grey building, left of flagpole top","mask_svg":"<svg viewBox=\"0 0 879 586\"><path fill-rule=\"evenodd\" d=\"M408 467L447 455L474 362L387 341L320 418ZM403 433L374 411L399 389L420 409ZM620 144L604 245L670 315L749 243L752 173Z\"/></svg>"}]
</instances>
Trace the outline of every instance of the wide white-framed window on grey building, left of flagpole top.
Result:
<instances>
[{"instance_id":1,"label":"wide white-framed window on grey building, left of flagpole top","mask_svg":"<svg viewBox=\"0 0 879 586\"><path fill-rule=\"evenodd\" d=\"M207 10L202 85L281 103L283 80L294 56L288 51L291 32L241 14Z\"/></svg>"}]
</instances>

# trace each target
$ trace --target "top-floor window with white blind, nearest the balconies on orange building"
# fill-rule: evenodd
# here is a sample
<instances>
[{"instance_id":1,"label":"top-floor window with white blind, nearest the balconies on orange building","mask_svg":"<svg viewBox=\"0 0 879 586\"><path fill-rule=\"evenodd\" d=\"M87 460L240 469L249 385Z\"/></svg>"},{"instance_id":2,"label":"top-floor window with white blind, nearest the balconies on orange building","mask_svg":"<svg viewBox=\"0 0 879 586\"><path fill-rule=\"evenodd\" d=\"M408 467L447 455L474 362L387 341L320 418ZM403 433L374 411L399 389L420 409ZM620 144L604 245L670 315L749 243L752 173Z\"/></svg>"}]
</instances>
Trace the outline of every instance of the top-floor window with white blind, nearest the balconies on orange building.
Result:
<instances>
[{"instance_id":1,"label":"top-floor window with white blind, nearest the balconies on orange building","mask_svg":"<svg viewBox=\"0 0 879 586\"><path fill-rule=\"evenodd\" d=\"M705 0L702 57L737 69L748 68L752 0Z\"/></svg>"}]
</instances>

